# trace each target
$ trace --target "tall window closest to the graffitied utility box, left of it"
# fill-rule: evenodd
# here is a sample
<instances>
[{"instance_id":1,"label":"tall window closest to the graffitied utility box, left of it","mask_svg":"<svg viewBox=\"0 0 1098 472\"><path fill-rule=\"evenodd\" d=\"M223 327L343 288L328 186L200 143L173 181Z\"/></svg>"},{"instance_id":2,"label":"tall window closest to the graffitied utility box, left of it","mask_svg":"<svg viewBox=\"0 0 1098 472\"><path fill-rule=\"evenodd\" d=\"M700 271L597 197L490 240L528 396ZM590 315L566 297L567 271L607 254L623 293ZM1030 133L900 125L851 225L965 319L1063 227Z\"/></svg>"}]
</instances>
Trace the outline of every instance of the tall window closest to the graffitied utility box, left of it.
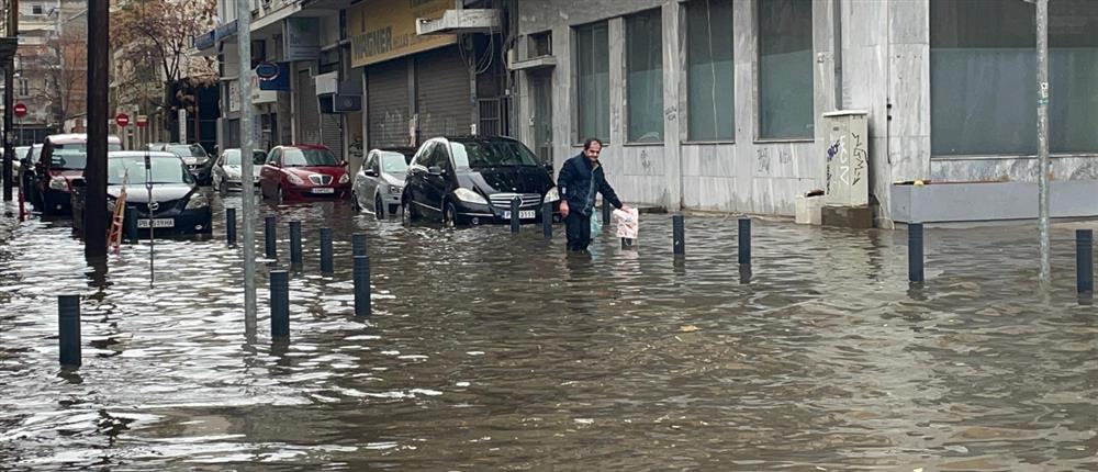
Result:
<instances>
[{"instance_id":1,"label":"tall window closest to the graffitied utility box, left of it","mask_svg":"<svg viewBox=\"0 0 1098 472\"><path fill-rule=\"evenodd\" d=\"M810 139L813 1L759 0L759 137Z\"/></svg>"}]
</instances>

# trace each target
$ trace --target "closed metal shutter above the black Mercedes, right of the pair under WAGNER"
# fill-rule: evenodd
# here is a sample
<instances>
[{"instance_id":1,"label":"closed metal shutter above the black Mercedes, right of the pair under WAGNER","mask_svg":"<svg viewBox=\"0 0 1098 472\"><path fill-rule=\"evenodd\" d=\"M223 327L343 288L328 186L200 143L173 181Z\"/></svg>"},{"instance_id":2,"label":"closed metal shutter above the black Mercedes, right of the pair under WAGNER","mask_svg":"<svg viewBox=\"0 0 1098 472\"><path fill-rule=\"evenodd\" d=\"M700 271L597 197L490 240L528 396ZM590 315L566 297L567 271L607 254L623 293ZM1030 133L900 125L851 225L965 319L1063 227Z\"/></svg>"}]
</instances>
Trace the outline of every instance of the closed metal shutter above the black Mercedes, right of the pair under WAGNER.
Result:
<instances>
[{"instance_id":1,"label":"closed metal shutter above the black Mercedes, right of the pair under WAGNER","mask_svg":"<svg viewBox=\"0 0 1098 472\"><path fill-rule=\"evenodd\" d=\"M444 135L471 134L469 67L448 46L415 57L416 108L421 142Z\"/></svg>"}]
</instances>

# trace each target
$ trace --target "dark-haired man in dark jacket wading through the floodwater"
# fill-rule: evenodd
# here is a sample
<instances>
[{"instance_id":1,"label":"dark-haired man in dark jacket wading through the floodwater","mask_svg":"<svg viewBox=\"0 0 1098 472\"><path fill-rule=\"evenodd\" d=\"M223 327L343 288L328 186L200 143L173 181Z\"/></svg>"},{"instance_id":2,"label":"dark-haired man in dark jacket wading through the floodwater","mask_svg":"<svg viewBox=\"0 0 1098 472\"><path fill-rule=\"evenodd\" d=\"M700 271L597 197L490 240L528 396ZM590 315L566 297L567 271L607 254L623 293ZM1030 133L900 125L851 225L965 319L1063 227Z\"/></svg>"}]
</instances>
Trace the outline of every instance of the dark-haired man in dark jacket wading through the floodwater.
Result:
<instances>
[{"instance_id":1,"label":"dark-haired man in dark jacket wading through the floodwater","mask_svg":"<svg viewBox=\"0 0 1098 472\"><path fill-rule=\"evenodd\" d=\"M603 143L591 138L583 143L583 153L564 161L557 178L557 187L563 200L560 214L564 216L568 234L568 250L586 251L591 244L591 214L595 207L595 193L616 209L625 209L614 189L606 182L603 167L598 165L598 154Z\"/></svg>"}]
</instances>

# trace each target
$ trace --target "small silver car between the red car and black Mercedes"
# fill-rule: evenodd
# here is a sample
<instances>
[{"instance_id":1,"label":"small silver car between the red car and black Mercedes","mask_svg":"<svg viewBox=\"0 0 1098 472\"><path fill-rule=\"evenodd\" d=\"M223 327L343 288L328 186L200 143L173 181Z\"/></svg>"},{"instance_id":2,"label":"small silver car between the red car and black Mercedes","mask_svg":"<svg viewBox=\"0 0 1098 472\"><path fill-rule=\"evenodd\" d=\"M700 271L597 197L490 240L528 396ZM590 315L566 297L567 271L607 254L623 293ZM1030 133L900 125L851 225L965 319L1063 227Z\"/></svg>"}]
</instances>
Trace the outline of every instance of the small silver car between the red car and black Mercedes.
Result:
<instances>
[{"instance_id":1,"label":"small silver car between the red car and black Mercedes","mask_svg":"<svg viewBox=\"0 0 1098 472\"><path fill-rule=\"evenodd\" d=\"M411 155L412 151L371 150L351 187L350 201L355 210L372 211L378 220L397 214Z\"/></svg>"}]
</instances>

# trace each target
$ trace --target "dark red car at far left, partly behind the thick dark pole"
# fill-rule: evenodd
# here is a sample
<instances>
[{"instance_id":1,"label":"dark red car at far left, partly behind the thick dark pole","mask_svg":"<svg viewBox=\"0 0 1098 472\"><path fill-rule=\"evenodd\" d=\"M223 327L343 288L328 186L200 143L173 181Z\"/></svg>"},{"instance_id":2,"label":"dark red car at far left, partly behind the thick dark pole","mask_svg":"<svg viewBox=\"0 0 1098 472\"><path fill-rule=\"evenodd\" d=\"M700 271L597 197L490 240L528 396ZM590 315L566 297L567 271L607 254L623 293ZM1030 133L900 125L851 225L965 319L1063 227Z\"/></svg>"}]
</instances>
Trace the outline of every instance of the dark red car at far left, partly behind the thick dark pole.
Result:
<instances>
[{"instance_id":1,"label":"dark red car at far left, partly behind the thick dark pole","mask_svg":"<svg viewBox=\"0 0 1098 472\"><path fill-rule=\"evenodd\" d=\"M110 136L107 150L122 150L122 139ZM83 176L88 165L87 134L55 134L46 136L42 145L42 157L35 166L37 181L35 191L44 215L67 215L71 213L72 179Z\"/></svg>"}]
</instances>

